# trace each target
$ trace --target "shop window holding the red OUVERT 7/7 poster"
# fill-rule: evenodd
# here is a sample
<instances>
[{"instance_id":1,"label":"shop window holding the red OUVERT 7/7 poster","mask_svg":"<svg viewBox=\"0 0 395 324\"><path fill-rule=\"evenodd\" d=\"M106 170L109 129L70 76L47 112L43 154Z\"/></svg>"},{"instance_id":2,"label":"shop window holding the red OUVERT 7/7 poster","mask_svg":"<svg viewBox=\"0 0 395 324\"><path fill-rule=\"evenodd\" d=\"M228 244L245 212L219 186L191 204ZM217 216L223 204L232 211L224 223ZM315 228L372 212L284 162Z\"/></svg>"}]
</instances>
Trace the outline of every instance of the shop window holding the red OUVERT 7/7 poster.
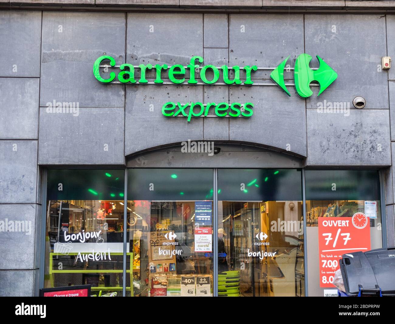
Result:
<instances>
[{"instance_id":1,"label":"shop window holding the red OUVERT 7/7 poster","mask_svg":"<svg viewBox=\"0 0 395 324\"><path fill-rule=\"evenodd\" d=\"M342 254L382 247L379 173L306 170L305 183L308 294L324 296Z\"/></svg>"}]
</instances>

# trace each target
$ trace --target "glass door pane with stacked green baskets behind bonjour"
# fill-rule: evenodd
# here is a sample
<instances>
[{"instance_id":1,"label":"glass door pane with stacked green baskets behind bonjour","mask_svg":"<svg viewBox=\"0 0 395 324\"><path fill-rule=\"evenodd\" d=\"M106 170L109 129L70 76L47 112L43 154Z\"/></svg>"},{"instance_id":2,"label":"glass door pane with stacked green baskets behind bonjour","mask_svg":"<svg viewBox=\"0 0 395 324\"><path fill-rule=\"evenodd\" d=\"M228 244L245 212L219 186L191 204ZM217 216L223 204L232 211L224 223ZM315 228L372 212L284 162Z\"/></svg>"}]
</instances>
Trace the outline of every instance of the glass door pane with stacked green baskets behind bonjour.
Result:
<instances>
[{"instance_id":1,"label":"glass door pane with stacked green baskets behind bonjour","mask_svg":"<svg viewBox=\"0 0 395 324\"><path fill-rule=\"evenodd\" d=\"M301 170L218 169L218 295L304 296Z\"/></svg>"}]
</instances>

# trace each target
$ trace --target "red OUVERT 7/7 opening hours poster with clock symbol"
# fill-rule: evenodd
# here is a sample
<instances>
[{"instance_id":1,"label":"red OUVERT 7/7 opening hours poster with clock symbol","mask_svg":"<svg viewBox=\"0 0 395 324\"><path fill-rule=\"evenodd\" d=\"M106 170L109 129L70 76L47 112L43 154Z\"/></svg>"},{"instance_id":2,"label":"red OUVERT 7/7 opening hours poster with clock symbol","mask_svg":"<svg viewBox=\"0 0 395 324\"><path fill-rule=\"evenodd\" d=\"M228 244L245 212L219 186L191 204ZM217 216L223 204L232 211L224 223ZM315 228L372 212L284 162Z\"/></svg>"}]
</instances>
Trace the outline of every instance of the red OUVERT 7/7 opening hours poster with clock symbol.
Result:
<instances>
[{"instance_id":1,"label":"red OUVERT 7/7 opening hours poster with clock symbol","mask_svg":"<svg viewBox=\"0 0 395 324\"><path fill-rule=\"evenodd\" d=\"M359 223L364 226L359 226ZM369 218L362 213L353 217L318 218L320 249L320 287L334 287L335 271L343 254L370 250Z\"/></svg>"}]
</instances>

